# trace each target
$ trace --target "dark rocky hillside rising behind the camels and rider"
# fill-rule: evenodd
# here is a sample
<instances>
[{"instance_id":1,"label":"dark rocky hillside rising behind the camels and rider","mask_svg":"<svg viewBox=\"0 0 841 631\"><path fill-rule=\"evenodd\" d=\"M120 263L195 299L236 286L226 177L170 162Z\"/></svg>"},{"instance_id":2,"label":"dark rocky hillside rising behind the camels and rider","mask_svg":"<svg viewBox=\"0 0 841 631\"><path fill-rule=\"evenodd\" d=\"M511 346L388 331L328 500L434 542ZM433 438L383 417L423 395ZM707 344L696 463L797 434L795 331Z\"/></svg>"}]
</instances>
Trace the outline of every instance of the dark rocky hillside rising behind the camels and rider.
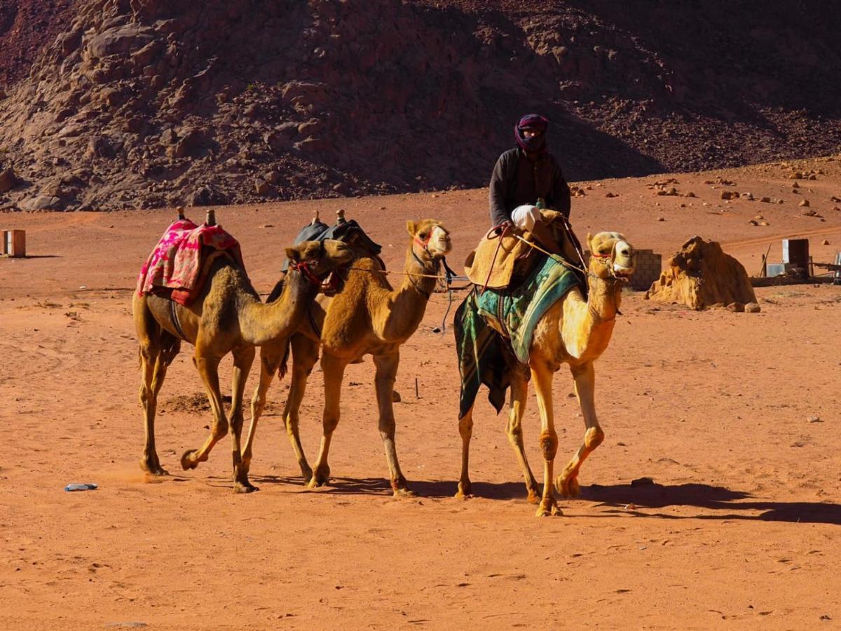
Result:
<instances>
[{"instance_id":1,"label":"dark rocky hillside rising behind the camels and rider","mask_svg":"<svg viewBox=\"0 0 841 631\"><path fill-rule=\"evenodd\" d=\"M0 208L481 186L527 111L572 179L841 146L841 13L817 0L6 6Z\"/></svg>"}]
</instances>

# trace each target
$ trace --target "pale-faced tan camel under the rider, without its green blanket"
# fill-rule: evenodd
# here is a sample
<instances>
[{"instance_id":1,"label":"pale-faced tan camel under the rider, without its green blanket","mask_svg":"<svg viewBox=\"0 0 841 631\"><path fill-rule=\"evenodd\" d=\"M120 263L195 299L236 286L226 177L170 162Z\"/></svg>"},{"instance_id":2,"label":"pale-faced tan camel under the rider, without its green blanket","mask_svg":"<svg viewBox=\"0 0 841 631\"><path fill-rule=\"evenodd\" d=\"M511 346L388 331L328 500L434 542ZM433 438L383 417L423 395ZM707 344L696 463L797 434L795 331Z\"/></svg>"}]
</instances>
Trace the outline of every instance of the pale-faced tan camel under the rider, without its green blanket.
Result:
<instances>
[{"instance_id":1,"label":"pale-faced tan camel under the rider, without its green blanket","mask_svg":"<svg viewBox=\"0 0 841 631\"><path fill-rule=\"evenodd\" d=\"M588 298L584 299L578 287L564 294L538 321L529 350L528 366L521 364L508 371L511 392L506 432L526 479L528 499L532 503L540 503L537 517L561 514L553 494L552 480L558 450L552 379L562 363L569 364L573 375L575 395L584 415L586 431L584 444L555 480L558 493L562 496L578 495L581 464L605 438L595 415L593 363L611 341L621 302L621 288L634 270L634 250L617 232L600 232L592 237L588 234L587 244L592 253L587 271ZM523 449L522 417L526 411L529 371L534 380L541 420L542 496ZM471 493L468 457L473 433L473 407L459 419L458 431L462 437L462 473L456 497L465 498Z\"/></svg>"}]
</instances>

